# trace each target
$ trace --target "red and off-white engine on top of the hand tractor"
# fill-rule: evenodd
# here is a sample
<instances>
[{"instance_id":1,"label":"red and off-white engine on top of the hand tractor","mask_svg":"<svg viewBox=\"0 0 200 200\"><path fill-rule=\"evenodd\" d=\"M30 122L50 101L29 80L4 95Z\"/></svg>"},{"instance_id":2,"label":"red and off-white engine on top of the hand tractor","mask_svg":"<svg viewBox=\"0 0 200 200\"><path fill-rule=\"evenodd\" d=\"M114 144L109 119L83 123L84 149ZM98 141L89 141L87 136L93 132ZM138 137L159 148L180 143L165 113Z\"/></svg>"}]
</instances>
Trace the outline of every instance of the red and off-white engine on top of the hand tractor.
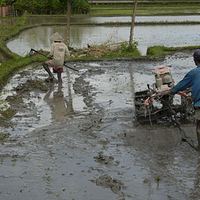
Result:
<instances>
[{"instance_id":1,"label":"red and off-white engine on top of the hand tractor","mask_svg":"<svg viewBox=\"0 0 200 200\"><path fill-rule=\"evenodd\" d=\"M168 90L174 86L174 80L169 67L157 68L155 69L154 74L156 83L153 85L153 89L156 92Z\"/></svg>"}]
</instances>

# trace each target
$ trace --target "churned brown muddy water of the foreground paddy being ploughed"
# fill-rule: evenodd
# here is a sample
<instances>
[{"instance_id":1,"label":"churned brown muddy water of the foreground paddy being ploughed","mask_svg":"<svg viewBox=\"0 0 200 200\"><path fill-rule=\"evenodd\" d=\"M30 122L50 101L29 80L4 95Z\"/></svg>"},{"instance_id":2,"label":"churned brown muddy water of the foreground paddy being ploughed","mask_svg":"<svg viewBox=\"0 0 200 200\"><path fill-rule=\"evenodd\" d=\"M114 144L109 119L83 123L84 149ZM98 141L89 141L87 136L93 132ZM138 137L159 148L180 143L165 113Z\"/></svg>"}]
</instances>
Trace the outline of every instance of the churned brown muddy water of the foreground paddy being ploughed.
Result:
<instances>
[{"instance_id":1,"label":"churned brown muddy water of the foreground paddy being ploughed","mask_svg":"<svg viewBox=\"0 0 200 200\"><path fill-rule=\"evenodd\" d=\"M135 121L134 93L170 65L175 82L194 68L192 52L160 60L69 63L63 84L40 64L10 79L1 108L0 199L199 199L199 152L170 123ZM194 125L183 127L195 144Z\"/></svg>"}]
</instances>

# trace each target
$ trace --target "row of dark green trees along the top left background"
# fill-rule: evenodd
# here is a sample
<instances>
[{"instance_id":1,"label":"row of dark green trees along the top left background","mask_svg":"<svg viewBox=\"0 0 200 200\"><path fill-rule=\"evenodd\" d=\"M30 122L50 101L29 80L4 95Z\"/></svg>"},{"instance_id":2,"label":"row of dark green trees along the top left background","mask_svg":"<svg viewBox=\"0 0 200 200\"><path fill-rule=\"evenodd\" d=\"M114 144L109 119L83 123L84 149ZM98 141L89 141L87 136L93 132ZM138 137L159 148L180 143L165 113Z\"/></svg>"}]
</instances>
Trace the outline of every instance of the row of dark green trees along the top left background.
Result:
<instances>
[{"instance_id":1,"label":"row of dark green trees along the top left background","mask_svg":"<svg viewBox=\"0 0 200 200\"><path fill-rule=\"evenodd\" d=\"M66 14L68 0L0 0L0 6L13 5L18 15L24 12L33 15ZM88 0L73 0L72 14L87 14L90 11Z\"/></svg>"}]
</instances>

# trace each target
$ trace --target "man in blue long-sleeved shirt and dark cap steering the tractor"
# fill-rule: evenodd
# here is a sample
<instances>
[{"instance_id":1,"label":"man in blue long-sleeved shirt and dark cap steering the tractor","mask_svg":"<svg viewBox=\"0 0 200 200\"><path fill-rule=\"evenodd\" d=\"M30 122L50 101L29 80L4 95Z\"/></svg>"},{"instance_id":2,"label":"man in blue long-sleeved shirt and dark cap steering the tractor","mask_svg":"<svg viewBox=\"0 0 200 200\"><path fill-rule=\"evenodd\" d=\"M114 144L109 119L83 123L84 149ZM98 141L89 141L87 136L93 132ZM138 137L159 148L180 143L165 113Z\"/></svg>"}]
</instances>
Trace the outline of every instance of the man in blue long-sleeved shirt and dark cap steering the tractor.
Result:
<instances>
[{"instance_id":1,"label":"man in blue long-sleeved shirt and dark cap steering the tractor","mask_svg":"<svg viewBox=\"0 0 200 200\"><path fill-rule=\"evenodd\" d=\"M194 52L193 58L197 67L189 71L185 77L171 89L170 93L176 94L188 87L192 88L193 105L196 112L196 133L199 145L198 148L200 149L200 49Z\"/></svg>"}]
</instances>

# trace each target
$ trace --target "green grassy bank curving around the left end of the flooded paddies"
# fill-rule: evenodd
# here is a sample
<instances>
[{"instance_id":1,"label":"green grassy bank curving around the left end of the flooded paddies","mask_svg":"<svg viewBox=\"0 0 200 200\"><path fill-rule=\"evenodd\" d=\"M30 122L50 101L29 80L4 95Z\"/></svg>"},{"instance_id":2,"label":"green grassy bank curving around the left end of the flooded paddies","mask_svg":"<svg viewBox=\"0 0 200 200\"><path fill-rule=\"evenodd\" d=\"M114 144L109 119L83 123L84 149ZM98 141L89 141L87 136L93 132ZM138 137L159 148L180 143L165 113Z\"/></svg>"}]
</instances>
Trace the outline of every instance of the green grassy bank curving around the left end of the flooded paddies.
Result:
<instances>
[{"instance_id":1,"label":"green grassy bank curving around the left end of the flooded paddies","mask_svg":"<svg viewBox=\"0 0 200 200\"><path fill-rule=\"evenodd\" d=\"M26 25L26 17L5 17L0 18L4 23L0 26L0 54L3 57L3 62L0 65L0 88L5 85L7 79L16 70L29 65L32 62L44 61L43 56L29 56L21 57L15 53L12 53L6 47L8 39L14 37L21 30L30 28Z\"/></svg>"}]
</instances>

